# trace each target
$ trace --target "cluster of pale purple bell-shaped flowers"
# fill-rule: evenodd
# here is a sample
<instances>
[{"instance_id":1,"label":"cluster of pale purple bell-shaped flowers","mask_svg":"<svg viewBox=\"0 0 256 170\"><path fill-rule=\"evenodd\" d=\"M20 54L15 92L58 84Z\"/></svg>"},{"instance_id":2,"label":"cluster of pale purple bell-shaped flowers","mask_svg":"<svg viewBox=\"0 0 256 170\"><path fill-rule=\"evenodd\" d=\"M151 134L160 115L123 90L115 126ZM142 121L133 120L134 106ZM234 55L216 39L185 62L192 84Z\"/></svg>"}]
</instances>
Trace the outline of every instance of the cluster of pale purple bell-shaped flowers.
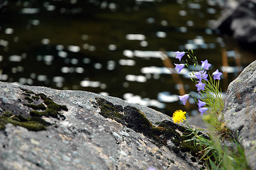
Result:
<instances>
[{"instance_id":1,"label":"cluster of pale purple bell-shaped flowers","mask_svg":"<svg viewBox=\"0 0 256 170\"><path fill-rule=\"evenodd\" d=\"M197 64L197 60L196 57L194 57L194 55L191 55L189 52L175 52L175 54L177 55L176 58L179 59L179 61L182 60L182 57L187 53L187 56L189 57L189 59L192 60L192 62L194 62L194 65L196 66ZM187 61L187 60L186 60ZM188 62L187 62L188 63ZM177 69L177 72L181 72L182 69L185 67L185 65L188 66L188 64L175 64L175 69ZM199 64L197 64L199 66ZM208 74L206 72L206 70L208 70L211 67L211 64L208 63L208 60L205 61L201 61L201 66L199 66L199 68L201 68L201 70L199 72L193 72L194 76L196 77L196 88L197 91L199 91L199 93L204 93L206 86L208 86L207 82L208 82ZM218 72L218 69L216 69L215 72L213 72L212 76L213 79L216 80L220 80L221 79L221 72ZM185 94L183 96L179 96L179 100L183 102L184 105L186 105L187 100L189 99L189 94ZM206 111L208 111L208 108L206 107L206 102L198 100L198 106L199 106L199 112L201 114L204 114Z\"/></svg>"}]
</instances>

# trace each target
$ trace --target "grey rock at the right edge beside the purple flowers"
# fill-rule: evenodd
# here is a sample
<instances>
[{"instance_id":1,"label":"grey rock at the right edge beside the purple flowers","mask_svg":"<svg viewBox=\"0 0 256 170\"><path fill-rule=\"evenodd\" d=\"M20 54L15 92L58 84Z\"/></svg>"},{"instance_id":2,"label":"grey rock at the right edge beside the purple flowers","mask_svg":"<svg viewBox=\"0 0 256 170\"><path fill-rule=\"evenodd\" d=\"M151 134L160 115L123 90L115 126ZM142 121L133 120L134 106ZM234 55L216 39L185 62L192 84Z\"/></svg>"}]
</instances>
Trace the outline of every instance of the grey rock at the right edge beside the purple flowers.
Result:
<instances>
[{"instance_id":1,"label":"grey rock at the right edge beside the purple flowers","mask_svg":"<svg viewBox=\"0 0 256 170\"><path fill-rule=\"evenodd\" d=\"M247 162L256 169L256 61L228 86L224 118L228 128L245 148Z\"/></svg>"}]
</instances>

